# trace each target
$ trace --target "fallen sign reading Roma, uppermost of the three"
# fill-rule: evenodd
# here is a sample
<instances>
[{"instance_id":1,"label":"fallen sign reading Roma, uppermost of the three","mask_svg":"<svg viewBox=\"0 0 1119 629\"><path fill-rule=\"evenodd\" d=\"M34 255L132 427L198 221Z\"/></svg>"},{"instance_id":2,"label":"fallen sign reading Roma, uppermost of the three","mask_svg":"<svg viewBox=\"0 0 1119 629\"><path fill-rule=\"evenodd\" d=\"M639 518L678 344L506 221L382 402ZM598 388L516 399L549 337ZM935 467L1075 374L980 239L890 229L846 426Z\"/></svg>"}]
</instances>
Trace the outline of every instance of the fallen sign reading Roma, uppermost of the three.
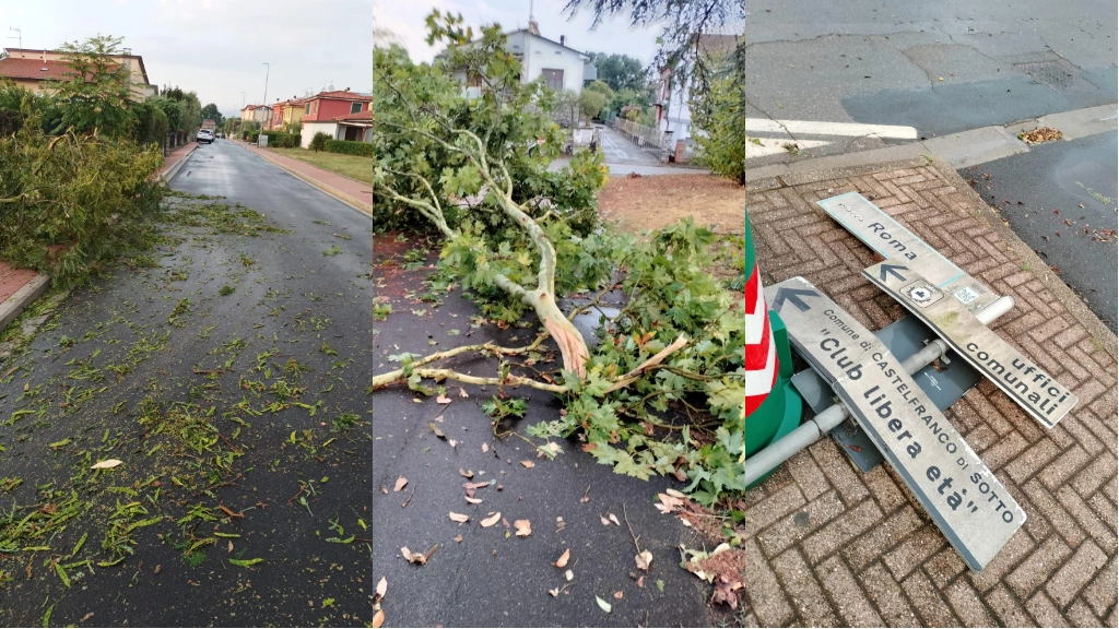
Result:
<instances>
[{"instance_id":1,"label":"fallen sign reading Roma, uppermost of the three","mask_svg":"<svg viewBox=\"0 0 1119 629\"><path fill-rule=\"evenodd\" d=\"M902 227L863 195L847 193L817 201L817 205L887 261L920 266L930 282L950 293L971 312L978 312L998 299L997 294Z\"/></svg>"}]
</instances>

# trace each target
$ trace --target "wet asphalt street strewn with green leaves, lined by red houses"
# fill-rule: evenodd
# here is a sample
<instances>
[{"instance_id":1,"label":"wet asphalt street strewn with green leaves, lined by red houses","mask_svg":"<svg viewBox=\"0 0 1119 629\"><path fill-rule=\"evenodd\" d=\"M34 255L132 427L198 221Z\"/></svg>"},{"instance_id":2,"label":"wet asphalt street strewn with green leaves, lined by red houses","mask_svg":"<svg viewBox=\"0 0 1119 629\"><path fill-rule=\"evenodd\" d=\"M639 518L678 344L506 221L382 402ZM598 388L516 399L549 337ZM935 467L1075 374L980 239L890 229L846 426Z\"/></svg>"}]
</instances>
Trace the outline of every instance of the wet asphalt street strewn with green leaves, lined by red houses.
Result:
<instances>
[{"instance_id":1,"label":"wet asphalt street strewn with green leaves, lined by red houses","mask_svg":"<svg viewBox=\"0 0 1119 629\"><path fill-rule=\"evenodd\" d=\"M167 204L241 204L289 233L171 226L158 266L75 290L0 367L0 477L22 481L0 490L0 533L79 514L0 555L0 623L367 625L369 219L225 141L170 186L226 198ZM106 458L123 462L88 471Z\"/></svg>"}]
</instances>

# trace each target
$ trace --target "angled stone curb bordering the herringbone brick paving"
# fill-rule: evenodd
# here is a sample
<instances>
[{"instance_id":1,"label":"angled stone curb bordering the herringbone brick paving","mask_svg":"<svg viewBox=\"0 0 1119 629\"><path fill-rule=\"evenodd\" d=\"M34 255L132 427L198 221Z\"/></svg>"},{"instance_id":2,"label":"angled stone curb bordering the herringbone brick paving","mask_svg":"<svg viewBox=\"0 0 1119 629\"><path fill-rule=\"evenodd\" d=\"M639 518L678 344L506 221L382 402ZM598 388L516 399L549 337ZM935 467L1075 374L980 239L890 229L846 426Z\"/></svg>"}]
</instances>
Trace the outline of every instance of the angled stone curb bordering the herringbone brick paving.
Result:
<instances>
[{"instance_id":1,"label":"angled stone curb bordering the herringbone brick paving","mask_svg":"<svg viewBox=\"0 0 1119 629\"><path fill-rule=\"evenodd\" d=\"M873 153L880 150L883 149L864 152ZM829 158L819 159L826 160ZM824 168L811 171L798 170L796 173L770 175L765 178L747 180L746 194L782 187L800 186L816 181L859 177L882 170L899 170L915 167L933 168L946 180L955 181L957 189L961 191L970 203L975 204L977 207L987 208L989 212L980 212L982 219L1007 243L1007 245L1010 246L1010 248L1014 250L1016 254L1018 254L1022 261L1029 266L1031 274L1037 278L1037 280L1053 293L1053 297L1055 297L1069 309L1069 312L1072 313L1073 318L1088 329L1088 334L1100 344L1102 349L1107 351L1112 359L1117 359L1117 355L1119 355L1119 347L1117 347L1119 346L1119 340L1117 340L1116 335L1111 334L1111 330L1108 329L1102 321L1100 321L1099 317L1097 317L1088 308L1088 306L1081 301L1079 297L1076 297L1076 293L1074 293L1072 289L1070 289L1069 285L1061 280L1061 278L1050 271L1049 264L1043 262L1042 259L1034 253L1034 250L1029 248L1008 225L1003 223L1003 219L998 214L998 209L991 207L987 204L987 201L982 200L982 198L971 189L971 186L968 186L967 182L963 181L963 178L956 171L956 168L941 158L929 158L922 156L916 159L885 160L877 163L857 163L853 166L836 166L833 168Z\"/></svg>"}]
</instances>

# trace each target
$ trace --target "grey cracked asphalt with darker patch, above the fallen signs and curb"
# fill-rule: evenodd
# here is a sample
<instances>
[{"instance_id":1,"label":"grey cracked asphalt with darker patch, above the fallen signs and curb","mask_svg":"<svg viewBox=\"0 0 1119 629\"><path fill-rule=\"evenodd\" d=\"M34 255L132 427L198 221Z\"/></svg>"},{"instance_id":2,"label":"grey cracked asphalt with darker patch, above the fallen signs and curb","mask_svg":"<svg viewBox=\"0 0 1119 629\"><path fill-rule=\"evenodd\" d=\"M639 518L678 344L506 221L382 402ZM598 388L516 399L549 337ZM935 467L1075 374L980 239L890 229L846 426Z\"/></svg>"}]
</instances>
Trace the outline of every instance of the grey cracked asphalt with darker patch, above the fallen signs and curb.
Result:
<instances>
[{"instance_id":1,"label":"grey cracked asphalt with darker patch, above the fallen signs and curb","mask_svg":"<svg viewBox=\"0 0 1119 629\"><path fill-rule=\"evenodd\" d=\"M1115 2L759 0L746 10L747 118L933 138L1117 100ZM906 141L792 139L829 144L747 168Z\"/></svg>"}]
</instances>

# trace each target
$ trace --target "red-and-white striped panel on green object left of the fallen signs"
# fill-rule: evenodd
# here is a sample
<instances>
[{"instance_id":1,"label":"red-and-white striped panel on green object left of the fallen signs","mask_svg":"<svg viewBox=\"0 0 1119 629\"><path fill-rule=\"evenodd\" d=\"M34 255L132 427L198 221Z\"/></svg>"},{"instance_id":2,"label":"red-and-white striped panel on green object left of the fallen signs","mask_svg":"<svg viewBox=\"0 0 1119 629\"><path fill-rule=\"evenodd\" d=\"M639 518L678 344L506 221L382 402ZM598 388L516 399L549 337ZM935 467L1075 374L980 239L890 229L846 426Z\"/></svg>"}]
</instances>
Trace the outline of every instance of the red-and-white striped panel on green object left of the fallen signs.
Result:
<instances>
[{"instance_id":1,"label":"red-and-white striped panel on green object left of the fallen signs","mask_svg":"<svg viewBox=\"0 0 1119 629\"><path fill-rule=\"evenodd\" d=\"M750 416L777 382L777 346L770 330L769 308L762 295L762 280L754 256L754 241L746 217L746 416Z\"/></svg>"}]
</instances>

